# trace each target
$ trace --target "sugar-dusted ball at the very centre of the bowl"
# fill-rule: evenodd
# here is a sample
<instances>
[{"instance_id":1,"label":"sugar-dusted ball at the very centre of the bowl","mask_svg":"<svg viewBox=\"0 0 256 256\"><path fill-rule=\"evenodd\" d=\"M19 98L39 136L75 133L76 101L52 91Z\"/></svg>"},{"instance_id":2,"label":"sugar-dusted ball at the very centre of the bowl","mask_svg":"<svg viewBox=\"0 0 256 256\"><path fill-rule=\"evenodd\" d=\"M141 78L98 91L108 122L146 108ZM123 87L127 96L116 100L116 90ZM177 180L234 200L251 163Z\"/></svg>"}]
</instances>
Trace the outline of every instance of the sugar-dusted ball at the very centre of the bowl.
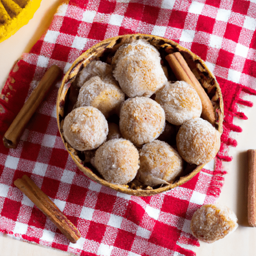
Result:
<instances>
[{"instance_id":1,"label":"sugar-dusted ball at the very centre of the bowl","mask_svg":"<svg viewBox=\"0 0 256 256\"><path fill-rule=\"evenodd\" d=\"M163 131L164 125L164 110L150 98L129 98L121 107L120 132L136 146L156 139Z\"/></svg>"}]
</instances>

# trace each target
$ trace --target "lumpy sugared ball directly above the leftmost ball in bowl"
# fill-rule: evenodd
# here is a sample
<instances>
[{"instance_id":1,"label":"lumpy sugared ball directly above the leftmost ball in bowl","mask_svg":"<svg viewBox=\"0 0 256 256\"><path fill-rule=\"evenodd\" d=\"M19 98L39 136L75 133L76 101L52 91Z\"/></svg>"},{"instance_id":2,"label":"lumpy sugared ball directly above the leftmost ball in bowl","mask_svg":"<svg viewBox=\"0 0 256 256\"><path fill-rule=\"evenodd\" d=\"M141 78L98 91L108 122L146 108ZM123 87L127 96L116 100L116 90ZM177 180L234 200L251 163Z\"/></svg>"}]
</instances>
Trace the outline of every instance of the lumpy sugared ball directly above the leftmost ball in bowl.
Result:
<instances>
[{"instance_id":1,"label":"lumpy sugared ball directly above the leftmost ball in bowl","mask_svg":"<svg viewBox=\"0 0 256 256\"><path fill-rule=\"evenodd\" d=\"M79 90L75 107L92 106L108 118L124 101L124 93L114 78L91 77Z\"/></svg>"}]
</instances>

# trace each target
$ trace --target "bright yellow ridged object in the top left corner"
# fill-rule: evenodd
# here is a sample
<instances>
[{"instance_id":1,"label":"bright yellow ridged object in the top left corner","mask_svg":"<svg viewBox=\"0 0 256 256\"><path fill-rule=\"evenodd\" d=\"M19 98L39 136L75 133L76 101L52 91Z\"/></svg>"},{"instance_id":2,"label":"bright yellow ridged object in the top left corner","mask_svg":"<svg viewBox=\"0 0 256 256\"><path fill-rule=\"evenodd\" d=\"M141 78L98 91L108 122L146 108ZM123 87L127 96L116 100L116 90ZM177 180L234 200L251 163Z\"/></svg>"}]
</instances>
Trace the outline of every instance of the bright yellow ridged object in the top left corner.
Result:
<instances>
[{"instance_id":1,"label":"bright yellow ridged object in the top left corner","mask_svg":"<svg viewBox=\"0 0 256 256\"><path fill-rule=\"evenodd\" d=\"M40 3L41 0L0 0L0 42L26 25Z\"/></svg>"}]
</instances>

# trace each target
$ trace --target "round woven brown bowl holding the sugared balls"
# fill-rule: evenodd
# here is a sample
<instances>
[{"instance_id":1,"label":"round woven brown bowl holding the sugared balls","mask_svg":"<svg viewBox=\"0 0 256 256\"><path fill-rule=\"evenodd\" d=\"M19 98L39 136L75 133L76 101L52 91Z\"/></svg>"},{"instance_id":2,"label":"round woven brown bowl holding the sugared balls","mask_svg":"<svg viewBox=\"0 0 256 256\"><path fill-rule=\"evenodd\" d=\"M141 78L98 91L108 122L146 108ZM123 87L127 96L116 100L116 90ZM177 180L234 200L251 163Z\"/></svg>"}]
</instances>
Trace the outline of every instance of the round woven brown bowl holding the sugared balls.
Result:
<instances>
[{"instance_id":1,"label":"round woven brown bowl holding the sugared balls","mask_svg":"<svg viewBox=\"0 0 256 256\"><path fill-rule=\"evenodd\" d=\"M58 128L60 131L61 138L64 142L64 145L71 155L73 161L78 166L78 168L90 179L117 190L122 193L135 195L135 196L152 196L163 191L170 190L174 187L180 186L194 177L205 164L193 165L184 163L184 171L181 176L171 185L161 185L154 188L143 187L136 185L136 182L130 182L127 185L115 185L107 182L102 178L102 176L97 172L93 166L90 164L84 163L84 155L82 152L79 152L73 149L65 140L63 136L63 121L65 116L72 110L73 105L76 102L79 88L76 86L76 77L78 72L85 66L87 66L92 60L102 60L103 62L110 62L111 57L113 57L115 51L123 44L130 43L134 39L144 39L150 44L154 45L160 52L160 56L166 64L165 56L167 49L172 49L174 51L179 51L184 59L186 60L188 66L194 73L194 75L199 80L200 84L205 89L207 95L212 101L214 106L215 113L215 128L222 133L222 122L223 122L223 99L221 94L221 89L217 83L214 75L205 65L204 61L201 60L197 55L189 51L188 49L180 46L178 43L153 35L144 35L144 34L132 34L132 35L123 35L117 36L109 39L105 39L98 44L94 45L92 48L88 49L81 56L79 56L70 69L67 71L66 75L63 78L62 84L59 88L58 97L57 97L57 122ZM168 64L166 64L168 66ZM168 68L168 73L171 79L177 80L171 70ZM175 81L172 80L172 81Z\"/></svg>"}]
</instances>

